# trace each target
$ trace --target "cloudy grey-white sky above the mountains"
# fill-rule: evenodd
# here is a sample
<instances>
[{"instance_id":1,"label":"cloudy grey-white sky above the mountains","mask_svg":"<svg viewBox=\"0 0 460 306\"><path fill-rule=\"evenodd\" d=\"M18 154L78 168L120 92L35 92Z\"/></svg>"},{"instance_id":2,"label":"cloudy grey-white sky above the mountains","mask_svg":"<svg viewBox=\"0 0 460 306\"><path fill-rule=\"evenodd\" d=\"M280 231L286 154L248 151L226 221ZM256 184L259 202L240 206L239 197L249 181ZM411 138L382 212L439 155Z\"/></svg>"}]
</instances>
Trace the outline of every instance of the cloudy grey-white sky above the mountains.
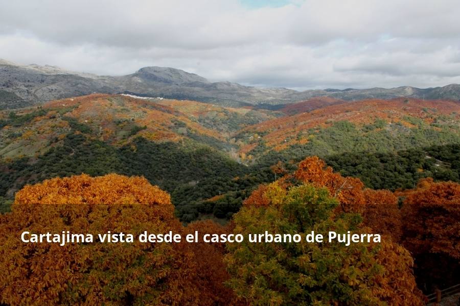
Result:
<instances>
[{"instance_id":1,"label":"cloudy grey-white sky above the mountains","mask_svg":"<svg viewBox=\"0 0 460 306\"><path fill-rule=\"evenodd\" d=\"M458 0L0 0L0 58L263 87L460 83Z\"/></svg>"}]
</instances>

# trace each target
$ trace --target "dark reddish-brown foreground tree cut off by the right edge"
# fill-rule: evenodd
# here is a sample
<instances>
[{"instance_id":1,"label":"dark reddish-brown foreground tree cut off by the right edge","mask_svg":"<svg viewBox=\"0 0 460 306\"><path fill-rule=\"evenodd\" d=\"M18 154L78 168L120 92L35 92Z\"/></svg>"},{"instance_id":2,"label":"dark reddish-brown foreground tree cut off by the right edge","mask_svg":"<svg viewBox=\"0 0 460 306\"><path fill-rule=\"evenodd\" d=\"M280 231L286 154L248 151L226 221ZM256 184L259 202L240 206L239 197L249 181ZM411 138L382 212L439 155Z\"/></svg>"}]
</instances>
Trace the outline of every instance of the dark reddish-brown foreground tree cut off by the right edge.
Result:
<instances>
[{"instance_id":1,"label":"dark reddish-brown foreground tree cut off by the right edge","mask_svg":"<svg viewBox=\"0 0 460 306\"><path fill-rule=\"evenodd\" d=\"M406 197L403 243L427 291L460 283L460 184L423 180Z\"/></svg>"}]
</instances>

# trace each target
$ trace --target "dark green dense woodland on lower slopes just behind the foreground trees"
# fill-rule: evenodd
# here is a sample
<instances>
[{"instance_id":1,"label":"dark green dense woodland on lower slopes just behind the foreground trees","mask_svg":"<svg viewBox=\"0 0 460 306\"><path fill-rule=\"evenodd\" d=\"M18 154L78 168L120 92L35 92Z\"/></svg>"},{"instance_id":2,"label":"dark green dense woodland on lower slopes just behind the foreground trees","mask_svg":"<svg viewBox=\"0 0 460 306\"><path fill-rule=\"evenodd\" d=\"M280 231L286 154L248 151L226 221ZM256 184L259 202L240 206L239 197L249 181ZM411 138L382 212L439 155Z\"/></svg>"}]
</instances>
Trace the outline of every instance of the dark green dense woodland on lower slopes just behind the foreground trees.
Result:
<instances>
[{"instance_id":1,"label":"dark green dense woodland on lower slopes just behind the foreground trees","mask_svg":"<svg viewBox=\"0 0 460 306\"><path fill-rule=\"evenodd\" d=\"M51 177L80 173L143 175L171 193L183 221L192 221L200 214L228 218L240 209L242 200L252 189L275 179L277 173L270 166L284 161L281 173L287 172L295 168L292 160L301 158L277 154L271 160L264 159L263 166L247 167L192 141L179 145L138 138L133 144L135 150L131 145L117 148L102 141L87 140L82 134L69 134L62 146L50 149L36 161L22 158L4 164L0 192L8 198L13 186L19 189ZM177 162L171 163L171 160ZM325 157L325 160L343 175L359 177L366 187L373 189L411 189L423 177L460 182L458 144L401 150L394 154L342 154Z\"/></svg>"}]
</instances>

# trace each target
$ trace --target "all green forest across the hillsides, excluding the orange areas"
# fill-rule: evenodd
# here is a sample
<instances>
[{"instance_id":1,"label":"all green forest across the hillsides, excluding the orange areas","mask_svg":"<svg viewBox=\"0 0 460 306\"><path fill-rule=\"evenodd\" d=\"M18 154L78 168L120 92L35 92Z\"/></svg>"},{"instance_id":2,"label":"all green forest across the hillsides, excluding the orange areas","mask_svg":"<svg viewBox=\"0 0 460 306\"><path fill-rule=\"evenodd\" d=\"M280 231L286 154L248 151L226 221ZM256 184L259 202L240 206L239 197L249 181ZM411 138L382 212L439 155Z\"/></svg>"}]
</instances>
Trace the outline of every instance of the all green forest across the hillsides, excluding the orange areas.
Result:
<instances>
[{"instance_id":1,"label":"all green forest across the hillsides, excluding the orange areas","mask_svg":"<svg viewBox=\"0 0 460 306\"><path fill-rule=\"evenodd\" d=\"M65 114L69 109L58 110ZM9 112L0 122L2 126L20 129L48 113L49 110L42 108L22 115ZM232 116L233 120L239 118ZM211 121L199 121L204 120L210 127L214 122L222 128L215 114L211 118ZM2 211L8 211L14 192L26 184L55 176L119 173L143 175L151 184L168 191L177 216L184 222L210 216L228 219L239 211L243 199L257 186L294 171L296 164L308 156L324 159L342 175L359 177L366 187L373 189L411 189L424 177L460 181L457 130L449 125L436 131L416 119L413 123L419 125L415 128L399 125L386 130L382 129L384 122L380 119L362 126L349 121L334 122L324 129L305 131L314 135L311 141L281 151L270 150L261 142L250 152L254 160L244 163L227 154L234 144L190 130L188 138L180 142L155 142L137 135L147 127L134 124L126 132L132 140L116 146L94 137L94 127L78 118L63 115L60 119L68 122L70 131L63 139L50 139L47 143L50 148L44 154L0 164ZM172 122L175 130L189 129L183 121ZM246 123L238 121L231 126ZM398 133L395 134L394 129ZM244 138L243 135L240 132L237 139ZM282 169L275 173L273 166L279 162Z\"/></svg>"}]
</instances>

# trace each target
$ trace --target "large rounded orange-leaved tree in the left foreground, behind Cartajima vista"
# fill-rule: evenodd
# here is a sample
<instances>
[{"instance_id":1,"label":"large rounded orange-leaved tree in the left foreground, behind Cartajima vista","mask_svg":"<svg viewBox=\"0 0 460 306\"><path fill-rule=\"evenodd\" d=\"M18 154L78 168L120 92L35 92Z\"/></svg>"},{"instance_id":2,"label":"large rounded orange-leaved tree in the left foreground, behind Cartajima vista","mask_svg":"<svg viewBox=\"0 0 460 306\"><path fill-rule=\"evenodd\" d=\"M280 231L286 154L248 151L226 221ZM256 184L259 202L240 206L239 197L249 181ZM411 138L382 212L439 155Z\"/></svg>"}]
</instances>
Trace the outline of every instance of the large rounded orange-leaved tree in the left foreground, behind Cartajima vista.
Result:
<instances>
[{"instance_id":1,"label":"large rounded orange-leaved tree in the left foreground, behind Cartajima vista","mask_svg":"<svg viewBox=\"0 0 460 306\"><path fill-rule=\"evenodd\" d=\"M0 302L200 303L197 266L185 244L24 243L30 233L180 232L169 195L141 177L79 175L26 186L0 219Z\"/></svg>"}]
</instances>

